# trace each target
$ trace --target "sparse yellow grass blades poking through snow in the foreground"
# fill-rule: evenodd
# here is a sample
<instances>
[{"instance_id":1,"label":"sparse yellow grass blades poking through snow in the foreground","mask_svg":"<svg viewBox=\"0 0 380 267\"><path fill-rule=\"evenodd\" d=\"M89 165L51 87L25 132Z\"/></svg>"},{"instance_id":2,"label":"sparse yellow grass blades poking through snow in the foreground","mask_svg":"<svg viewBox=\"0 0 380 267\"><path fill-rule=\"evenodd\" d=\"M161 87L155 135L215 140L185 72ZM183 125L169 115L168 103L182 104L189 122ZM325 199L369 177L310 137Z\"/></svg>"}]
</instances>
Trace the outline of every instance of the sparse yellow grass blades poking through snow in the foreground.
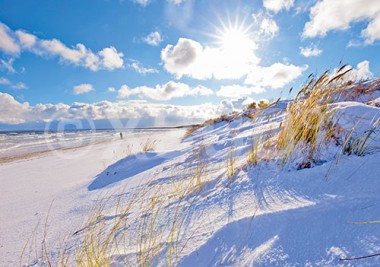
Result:
<instances>
[{"instance_id":1,"label":"sparse yellow grass blades poking through snow in the foreground","mask_svg":"<svg viewBox=\"0 0 380 267\"><path fill-rule=\"evenodd\" d=\"M115 194L104 197L96 202L84 226L58 249L48 246L47 218L43 240L38 241L34 234L28 241L20 257L20 267L24 261L27 266L108 267L114 255L121 255L119 261L123 261L123 266L156 266L159 262L177 266L193 235L184 232L186 219L208 172L204 148L196 149L194 156L189 171L180 176L180 185L173 180L176 186L170 198L161 185L144 187L128 200L115 199ZM70 241L73 239L75 243Z\"/></svg>"}]
</instances>

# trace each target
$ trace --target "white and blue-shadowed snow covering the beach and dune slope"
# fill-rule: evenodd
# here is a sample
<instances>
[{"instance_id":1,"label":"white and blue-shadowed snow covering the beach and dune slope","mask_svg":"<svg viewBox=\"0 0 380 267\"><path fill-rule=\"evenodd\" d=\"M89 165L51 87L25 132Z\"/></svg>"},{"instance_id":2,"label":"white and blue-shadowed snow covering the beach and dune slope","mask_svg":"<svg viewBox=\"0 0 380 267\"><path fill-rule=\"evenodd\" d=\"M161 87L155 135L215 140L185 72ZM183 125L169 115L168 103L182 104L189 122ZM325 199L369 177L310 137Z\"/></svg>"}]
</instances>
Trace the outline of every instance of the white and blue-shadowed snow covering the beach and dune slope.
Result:
<instances>
[{"instance_id":1,"label":"white and blue-shadowed snow covering the beach and dune slope","mask_svg":"<svg viewBox=\"0 0 380 267\"><path fill-rule=\"evenodd\" d=\"M152 260L158 266L167 265L165 237L173 216L178 219L175 214L183 219L176 229L181 249L175 265L379 266L379 257L340 261L380 253L380 224L360 223L380 218L378 132L363 156L348 156L340 152L341 145L326 144L311 168L281 165L271 153L260 154L257 166L248 165L252 138L276 134L287 105L280 101L256 121L235 116L208 125L186 139L185 130L178 129L129 134L124 140L0 165L0 265L18 264L25 242L48 212L54 251L67 236L69 243L83 237L80 230L104 197L103 218L112 225L122 195L118 205L134 205L124 229L128 242L122 252L109 255L113 267L124 266L125 258L137 263L141 221L149 222L152 214L163 237ZM331 109L343 131L359 136L380 118L378 107L360 102L334 103ZM141 152L148 139L159 142L153 151ZM236 173L229 178L231 153ZM179 197L197 173L201 189Z\"/></svg>"}]
</instances>

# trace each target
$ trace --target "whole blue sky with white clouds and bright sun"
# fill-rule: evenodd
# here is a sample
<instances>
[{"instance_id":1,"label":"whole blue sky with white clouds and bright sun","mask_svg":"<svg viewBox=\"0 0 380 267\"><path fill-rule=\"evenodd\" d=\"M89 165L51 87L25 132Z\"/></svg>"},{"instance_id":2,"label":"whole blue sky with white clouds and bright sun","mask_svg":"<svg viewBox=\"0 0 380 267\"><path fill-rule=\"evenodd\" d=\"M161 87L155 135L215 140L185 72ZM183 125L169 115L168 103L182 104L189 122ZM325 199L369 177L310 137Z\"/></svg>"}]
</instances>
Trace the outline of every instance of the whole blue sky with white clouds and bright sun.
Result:
<instances>
[{"instance_id":1,"label":"whole blue sky with white clouds and bright sun","mask_svg":"<svg viewBox=\"0 0 380 267\"><path fill-rule=\"evenodd\" d=\"M0 129L199 123L379 44L378 0L0 0Z\"/></svg>"}]
</instances>

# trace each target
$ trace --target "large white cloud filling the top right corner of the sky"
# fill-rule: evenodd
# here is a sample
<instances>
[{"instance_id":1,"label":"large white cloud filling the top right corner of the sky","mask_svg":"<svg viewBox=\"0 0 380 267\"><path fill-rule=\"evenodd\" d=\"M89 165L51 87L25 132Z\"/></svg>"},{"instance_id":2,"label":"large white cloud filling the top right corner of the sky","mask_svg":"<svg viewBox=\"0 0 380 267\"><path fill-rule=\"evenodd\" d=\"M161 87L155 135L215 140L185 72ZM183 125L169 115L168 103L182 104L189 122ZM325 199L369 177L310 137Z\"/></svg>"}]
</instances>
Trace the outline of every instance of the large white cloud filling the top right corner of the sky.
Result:
<instances>
[{"instance_id":1,"label":"large white cloud filling the top right corner of the sky","mask_svg":"<svg viewBox=\"0 0 380 267\"><path fill-rule=\"evenodd\" d=\"M366 44L380 39L380 2L378 0L321 0L310 10L303 37L326 36L332 30L347 30L350 24L370 21L361 35Z\"/></svg>"}]
</instances>

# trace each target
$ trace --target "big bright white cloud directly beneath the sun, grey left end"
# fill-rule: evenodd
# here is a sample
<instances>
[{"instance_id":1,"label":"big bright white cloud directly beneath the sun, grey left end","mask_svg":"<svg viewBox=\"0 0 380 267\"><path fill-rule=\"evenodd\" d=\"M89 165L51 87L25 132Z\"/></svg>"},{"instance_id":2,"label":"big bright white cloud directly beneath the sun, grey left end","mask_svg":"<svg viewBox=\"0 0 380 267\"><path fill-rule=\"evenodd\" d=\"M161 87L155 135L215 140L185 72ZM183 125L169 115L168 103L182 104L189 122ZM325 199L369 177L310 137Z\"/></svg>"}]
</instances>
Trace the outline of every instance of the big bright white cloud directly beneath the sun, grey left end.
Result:
<instances>
[{"instance_id":1,"label":"big bright white cloud directly beneath the sun, grey left end","mask_svg":"<svg viewBox=\"0 0 380 267\"><path fill-rule=\"evenodd\" d=\"M164 68L178 79L239 79L260 59L255 55L253 42L236 43L228 47L203 47L200 43L180 38L176 45L161 51Z\"/></svg>"}]
</instances>

